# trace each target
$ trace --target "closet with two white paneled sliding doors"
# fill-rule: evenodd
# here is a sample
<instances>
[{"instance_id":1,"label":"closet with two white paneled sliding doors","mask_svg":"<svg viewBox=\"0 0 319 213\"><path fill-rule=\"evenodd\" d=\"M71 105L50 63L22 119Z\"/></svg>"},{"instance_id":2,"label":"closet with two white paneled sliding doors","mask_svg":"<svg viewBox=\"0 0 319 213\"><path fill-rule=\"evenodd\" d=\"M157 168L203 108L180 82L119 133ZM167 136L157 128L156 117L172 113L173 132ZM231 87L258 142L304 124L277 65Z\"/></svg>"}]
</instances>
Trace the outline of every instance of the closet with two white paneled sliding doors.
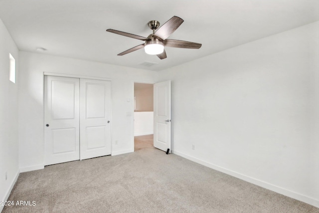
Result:
<instances>
[{"instance_id":1,"label":"closet with two white paneled sliding doors","mask_svg":"<svg viewBox=\"0 0 319 213\"><path fill-rule=\"evenodd\" d=\"M44 165L111 154L111 81L44 76Z\"/></svg>"}]
</instances>

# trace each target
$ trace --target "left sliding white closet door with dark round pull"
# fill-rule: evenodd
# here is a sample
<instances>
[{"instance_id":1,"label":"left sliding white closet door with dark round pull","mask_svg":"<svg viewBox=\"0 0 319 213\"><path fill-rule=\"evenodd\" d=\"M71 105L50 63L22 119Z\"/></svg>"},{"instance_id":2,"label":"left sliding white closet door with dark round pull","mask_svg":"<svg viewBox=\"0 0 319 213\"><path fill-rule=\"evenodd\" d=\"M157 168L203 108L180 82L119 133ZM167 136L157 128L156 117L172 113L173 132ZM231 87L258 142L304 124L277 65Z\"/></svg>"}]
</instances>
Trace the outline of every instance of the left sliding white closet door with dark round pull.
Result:
<instances>
[{"instance_id":1,"label":"left sliding white closet door with dark round pull","mask_svg":"<svg viewBox=\"0 0 319 213\"><path fill-rule=\"evenodd\" d=\"M80 159L79 79L45 76L44 165Z\"/></svg>"}]
</instances>

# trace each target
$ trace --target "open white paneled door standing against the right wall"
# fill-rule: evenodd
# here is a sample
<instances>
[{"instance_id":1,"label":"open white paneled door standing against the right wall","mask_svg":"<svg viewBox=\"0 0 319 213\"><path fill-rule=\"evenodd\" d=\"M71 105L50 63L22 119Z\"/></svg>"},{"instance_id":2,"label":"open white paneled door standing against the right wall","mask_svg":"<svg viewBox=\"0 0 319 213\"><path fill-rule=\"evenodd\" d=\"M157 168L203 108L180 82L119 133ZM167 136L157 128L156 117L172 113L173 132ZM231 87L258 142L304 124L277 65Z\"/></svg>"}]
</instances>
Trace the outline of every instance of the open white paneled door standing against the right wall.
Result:
<instances>
[{"instance_id":1,"label":"open white paneled door standing against the right wall","mask_svg":"<svg viewBox=\"0 0 319 213\"><path fill-rule=\"evenodd\" d=\"M170 81L154 84L154 147L170 153Z\"/></svg>"}]
</instances>

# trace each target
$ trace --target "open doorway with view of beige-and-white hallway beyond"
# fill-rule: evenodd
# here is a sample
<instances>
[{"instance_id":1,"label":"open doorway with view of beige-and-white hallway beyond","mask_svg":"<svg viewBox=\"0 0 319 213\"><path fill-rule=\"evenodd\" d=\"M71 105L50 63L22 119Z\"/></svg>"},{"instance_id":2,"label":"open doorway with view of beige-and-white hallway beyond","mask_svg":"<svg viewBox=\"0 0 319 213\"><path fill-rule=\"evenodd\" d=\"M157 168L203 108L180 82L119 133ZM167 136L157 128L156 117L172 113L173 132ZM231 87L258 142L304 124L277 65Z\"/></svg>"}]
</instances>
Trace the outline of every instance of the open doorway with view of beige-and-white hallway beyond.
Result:
<instances>
[{"instance_id":1,"label":"open doorway with view of beige-and-white hallway beyond","mask_svg":"<svg viewBox=\"0 0 319 213\"><path fill-rule=\"evenodd\" d=\"M154 85L134 83L134 151L154 147Z\"/></svg>"}]
</instances>

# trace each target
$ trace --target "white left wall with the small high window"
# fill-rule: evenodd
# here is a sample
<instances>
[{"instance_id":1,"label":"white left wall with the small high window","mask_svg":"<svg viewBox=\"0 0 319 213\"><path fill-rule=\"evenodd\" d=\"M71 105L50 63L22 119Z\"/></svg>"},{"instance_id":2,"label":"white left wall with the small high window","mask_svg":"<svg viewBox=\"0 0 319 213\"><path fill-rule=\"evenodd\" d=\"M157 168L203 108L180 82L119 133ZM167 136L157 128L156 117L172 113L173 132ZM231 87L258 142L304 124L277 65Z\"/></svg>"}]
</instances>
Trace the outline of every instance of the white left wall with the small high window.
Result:
<instances>
[{"instance_id":1,"label":"white left wall with the small high window","mask_svg":"<svg viewBox=\"0 0 319 213\"><path fill-rule=\"evenodd\" d=\"M0 201L5 201L19 175L18 166L18 83L9 81L9 53L15 58L18 73L18 49L0 19ZM5 180L5 173L7 179ZM0 206L0 212L3 206Z\"/></svg>"}]
</instances>

